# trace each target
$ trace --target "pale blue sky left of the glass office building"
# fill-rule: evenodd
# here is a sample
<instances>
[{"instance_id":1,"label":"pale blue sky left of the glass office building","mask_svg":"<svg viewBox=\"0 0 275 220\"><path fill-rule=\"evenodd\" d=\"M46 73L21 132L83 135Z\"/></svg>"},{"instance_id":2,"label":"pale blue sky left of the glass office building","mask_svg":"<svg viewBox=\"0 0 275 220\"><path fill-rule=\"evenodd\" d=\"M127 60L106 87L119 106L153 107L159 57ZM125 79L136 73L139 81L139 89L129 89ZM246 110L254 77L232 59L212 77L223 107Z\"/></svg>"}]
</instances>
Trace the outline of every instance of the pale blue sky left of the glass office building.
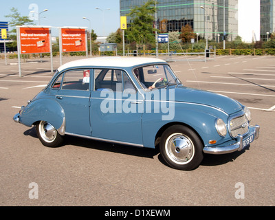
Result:
<instances>
[{"instance_id":1,"label":"pale blue sky left of the glass office building","mask_svg":"<svg viewBox=\"0 0 275 220\"><path fill-rule=\"evenodd\" d=\"M38 12L48 9L40 14L41 25L89 28L89 21L83 19L87 17L91 21L91 29L98 36L108 36L120 28L120 0L0 0L0 21L9 21L5 15L11 14L13 7L18 9L21 16L31 13L32 17L37 17L31 12L35 9L34 5L38 6ZM39 25L38 20L34 22ZM52 28L52 36L58 36L57 28Z\"/></svg>"}]
</instances>

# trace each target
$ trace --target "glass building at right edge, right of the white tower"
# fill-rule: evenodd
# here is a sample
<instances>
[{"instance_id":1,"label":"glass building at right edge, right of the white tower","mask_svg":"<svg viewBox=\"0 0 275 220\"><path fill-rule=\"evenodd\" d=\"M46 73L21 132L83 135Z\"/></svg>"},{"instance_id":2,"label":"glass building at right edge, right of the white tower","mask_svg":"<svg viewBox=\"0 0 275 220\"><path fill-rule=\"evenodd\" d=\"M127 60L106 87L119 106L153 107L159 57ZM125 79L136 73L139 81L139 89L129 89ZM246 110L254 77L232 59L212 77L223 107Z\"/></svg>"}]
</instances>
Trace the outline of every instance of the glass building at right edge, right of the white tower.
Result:
<instances>
[{"instance_id":1,"label":"glass building at right edge, right of the white tower","mask_svg":"<svg viewBox=\"0 0 275 220\"><path fill-rule=\"evenodd\" d=\"M261 0L261 40L267 41L275 32L275 0Z\"/></svg>"}]
</instances>

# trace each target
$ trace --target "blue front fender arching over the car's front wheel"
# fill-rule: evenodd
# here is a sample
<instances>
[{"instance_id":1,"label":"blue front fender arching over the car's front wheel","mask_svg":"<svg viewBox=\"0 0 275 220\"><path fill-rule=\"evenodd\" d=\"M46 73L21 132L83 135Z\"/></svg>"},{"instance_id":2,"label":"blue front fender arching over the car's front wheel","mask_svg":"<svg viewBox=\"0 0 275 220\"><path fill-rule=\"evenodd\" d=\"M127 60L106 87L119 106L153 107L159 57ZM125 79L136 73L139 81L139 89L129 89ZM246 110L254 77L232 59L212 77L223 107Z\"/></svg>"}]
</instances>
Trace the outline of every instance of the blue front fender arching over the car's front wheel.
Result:
<instances>
[{"instance_id":1,"label":"blue front fender arching over the car's front wheel","mask_svg":"<svg viewBox=\"0 0 275 220\"><path fill-rule=\"evenodd\" d=\"M176 103L172 120L162 120L162 113L144 113L142 116L142 133L144 146L154 147L157 133L169 124L185 124L195 130L203 144L209 140L222 141L215 129L215 119L225 120L228 115L219 109L197 104ZM227 137L225 137L227 138Z\"/></svg>"}]
</instances>

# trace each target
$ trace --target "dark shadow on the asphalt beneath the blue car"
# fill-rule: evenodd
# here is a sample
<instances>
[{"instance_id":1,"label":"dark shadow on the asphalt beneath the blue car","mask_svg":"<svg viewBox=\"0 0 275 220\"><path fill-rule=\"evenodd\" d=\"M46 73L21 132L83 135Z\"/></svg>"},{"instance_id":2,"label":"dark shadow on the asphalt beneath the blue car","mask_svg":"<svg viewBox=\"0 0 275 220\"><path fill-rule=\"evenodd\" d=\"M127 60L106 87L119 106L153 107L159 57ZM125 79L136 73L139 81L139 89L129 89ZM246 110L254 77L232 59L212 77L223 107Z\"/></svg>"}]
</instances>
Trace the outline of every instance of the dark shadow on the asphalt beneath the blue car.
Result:
<instances>
[{"instance_id":1,"label":"dark shadow on the asphalt beneath the blue car","mask_svg":"<svg viewBox=\"0 0 275 220\"><path fill-rule=\"evenodd\" d=\"M32 126L31 129L26 130L24 135L30 135L31 137L38 138L36 135L35 126ZM59 146L80 146L85 148L96 149L100 151L109 151L113 153L122 153L126 155L133 155L137 157L146 157L151 158L157 155L159 162L166 165L166 162L162 158L162 155L159 153L159 148L144 148L137 146L127 146L122 144L112 144L109 142L100 142L97 140L90 140L84 137L75 137L71 135L65 135L65 140L63 145ZM245 153L245 151L249 151L249 147L243 149L242 151L235 151L233 153L221 154L221 155L211 155L211 154L203 154L203 161L200 166L219 166L222 164L227 164L229 162L234 162L234 160Z\"/></svg>"}]
</instances>

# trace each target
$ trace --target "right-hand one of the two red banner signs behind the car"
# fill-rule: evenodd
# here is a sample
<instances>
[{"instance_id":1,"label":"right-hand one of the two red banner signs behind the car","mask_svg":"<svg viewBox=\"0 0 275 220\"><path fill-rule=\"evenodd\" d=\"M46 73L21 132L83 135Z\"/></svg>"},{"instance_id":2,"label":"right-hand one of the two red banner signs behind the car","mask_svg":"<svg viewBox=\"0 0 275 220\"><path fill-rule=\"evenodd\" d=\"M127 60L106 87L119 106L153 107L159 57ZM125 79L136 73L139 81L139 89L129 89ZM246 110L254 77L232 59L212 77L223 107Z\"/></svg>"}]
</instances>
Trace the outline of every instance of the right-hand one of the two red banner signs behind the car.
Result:
<instances>
[{"instance_id":1,"label":"right-hand one of the two red banner signs behind the car","mask_svg":"<svg viewBox=\"0 0 275 220\"><path fill-rule=\"evenodd\" d=\"M86 51L86 30L61 28L62 52Z\"/></svg>"}]
</instances>

